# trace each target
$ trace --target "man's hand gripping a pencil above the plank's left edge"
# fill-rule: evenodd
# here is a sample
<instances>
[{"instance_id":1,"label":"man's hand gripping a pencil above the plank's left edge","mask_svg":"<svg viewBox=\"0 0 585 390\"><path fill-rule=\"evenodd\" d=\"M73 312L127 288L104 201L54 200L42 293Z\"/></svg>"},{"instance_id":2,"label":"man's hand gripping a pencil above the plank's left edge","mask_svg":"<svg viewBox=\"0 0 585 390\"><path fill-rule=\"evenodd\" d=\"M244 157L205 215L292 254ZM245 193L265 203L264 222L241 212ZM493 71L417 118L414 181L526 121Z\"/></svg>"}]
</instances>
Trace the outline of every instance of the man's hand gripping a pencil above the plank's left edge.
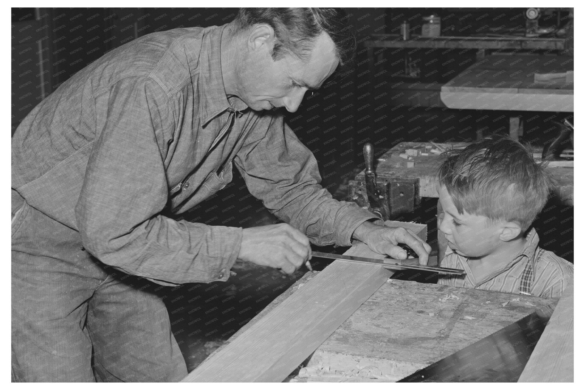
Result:
<instances>
[{"instance_id":1,"label":"man's hand gripping a pencil above the plank's left edge","mask_svg":"<svg viewBox=\"0 0 585 390\"><path fill-rule=\"evenodd\" d=\"M311 258L309 239L287 223L242 230L238 258L292 274Z\"/></svg>"}]
</instances>

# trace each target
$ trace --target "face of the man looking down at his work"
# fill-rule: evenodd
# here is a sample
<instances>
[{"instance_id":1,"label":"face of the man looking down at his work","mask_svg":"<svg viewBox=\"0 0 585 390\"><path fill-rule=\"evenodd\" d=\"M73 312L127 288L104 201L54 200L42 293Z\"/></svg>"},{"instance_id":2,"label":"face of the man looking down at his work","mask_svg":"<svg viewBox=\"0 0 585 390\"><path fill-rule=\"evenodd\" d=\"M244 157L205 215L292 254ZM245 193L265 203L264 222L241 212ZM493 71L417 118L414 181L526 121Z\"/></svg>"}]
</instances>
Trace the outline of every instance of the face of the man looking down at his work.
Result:
<instances>
[{"instance_id":1,"label":"face of the man looking down at his work","mask_svg":"<svg viewBox=\"0 0 585 390\"><path fill-rule=\"evenodd\" d=\"M339 60L334 49L331 37L322 33L308 62L291 54L274 61L267 43L238 70L238 96L256 111L285 107L295 112L305 92L321 87L335 71Z\"/></svg>"}]
</instances>

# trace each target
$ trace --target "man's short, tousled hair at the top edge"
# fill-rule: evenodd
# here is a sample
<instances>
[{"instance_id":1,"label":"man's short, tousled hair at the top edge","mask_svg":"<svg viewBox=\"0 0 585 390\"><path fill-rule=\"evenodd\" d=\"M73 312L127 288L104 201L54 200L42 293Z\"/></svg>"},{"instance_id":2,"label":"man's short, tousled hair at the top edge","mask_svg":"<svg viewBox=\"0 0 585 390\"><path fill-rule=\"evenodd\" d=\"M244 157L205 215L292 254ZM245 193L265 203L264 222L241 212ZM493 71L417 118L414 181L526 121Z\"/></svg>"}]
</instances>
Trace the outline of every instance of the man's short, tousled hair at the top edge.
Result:
<instances>
[{"instance_id":1,"label":"man's short, tousled hair at the top edge","mask_svg":"<svg viewBox=\"0 0 585 390\"><path fill-rule=\"evenodd\" d=\"M239 30L259 23L270 25L276 36L271 53L274 61L287 54L307 61L322 32L335 44L339 68L348 67L355 57L356 38L341 8L240 8L234 21Z\"/></svg>"}]
</instances>

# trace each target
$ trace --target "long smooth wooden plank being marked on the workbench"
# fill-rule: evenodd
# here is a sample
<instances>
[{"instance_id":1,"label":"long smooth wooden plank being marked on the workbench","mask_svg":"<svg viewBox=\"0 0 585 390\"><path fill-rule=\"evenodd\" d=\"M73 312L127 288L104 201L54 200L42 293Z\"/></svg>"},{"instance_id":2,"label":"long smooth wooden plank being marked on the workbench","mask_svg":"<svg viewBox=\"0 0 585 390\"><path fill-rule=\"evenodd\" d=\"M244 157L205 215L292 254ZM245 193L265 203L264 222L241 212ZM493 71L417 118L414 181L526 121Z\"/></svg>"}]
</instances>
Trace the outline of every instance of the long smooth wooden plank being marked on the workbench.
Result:
<instances>
[{"instance_id":1,"label":"long smooth wooden plank being marked on the workbench","mask_svg":"<svg viewBox=\"0 0 585 390\"><path fill-rule=\"evenodd\" d=\"M394 221L386 225L407 226L426 240L426 225ZM346 254L384 257L364 244ZM182 382L283 381L392 274L379 265L333 261L304 288L230 337Z\"/></svg>"}]
</instances>

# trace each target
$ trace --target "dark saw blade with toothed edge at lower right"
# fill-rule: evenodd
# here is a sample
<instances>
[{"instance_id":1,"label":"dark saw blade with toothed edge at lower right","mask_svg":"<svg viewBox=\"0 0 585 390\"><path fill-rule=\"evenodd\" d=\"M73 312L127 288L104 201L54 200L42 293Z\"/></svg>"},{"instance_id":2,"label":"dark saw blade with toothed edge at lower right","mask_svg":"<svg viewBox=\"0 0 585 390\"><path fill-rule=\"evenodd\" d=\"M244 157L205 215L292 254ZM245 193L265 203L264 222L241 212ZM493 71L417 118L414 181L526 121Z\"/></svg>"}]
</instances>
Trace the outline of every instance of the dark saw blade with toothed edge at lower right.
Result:
<instances>
[{"instance_id":1,"label":"dark saw blade with toothed edge at lower right","mask_svg":"<svg viewBox=\"0 0 585 390\"><path fill-rule=\"evenodd\" d=\"M557 302L398 382L517 382Z\"/></svg>"}]
</instances>

